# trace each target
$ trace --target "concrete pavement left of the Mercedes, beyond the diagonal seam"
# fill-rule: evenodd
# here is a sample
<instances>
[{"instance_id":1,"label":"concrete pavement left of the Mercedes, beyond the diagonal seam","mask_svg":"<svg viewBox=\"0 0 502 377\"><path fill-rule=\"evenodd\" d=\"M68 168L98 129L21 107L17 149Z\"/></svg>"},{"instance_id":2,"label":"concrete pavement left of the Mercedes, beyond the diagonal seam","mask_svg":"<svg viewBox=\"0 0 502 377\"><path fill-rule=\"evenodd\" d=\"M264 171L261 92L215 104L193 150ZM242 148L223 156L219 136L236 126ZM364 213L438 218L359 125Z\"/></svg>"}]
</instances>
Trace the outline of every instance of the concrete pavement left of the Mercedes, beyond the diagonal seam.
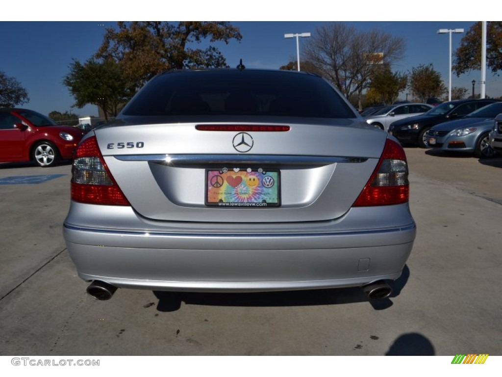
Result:
<instances>
[{"instance_id":1,"label":"concrete pavement left of the Mercedes, beyond the diagonal seam","mask_svg":"<svg viewBox=\"0 0 502 377\"><path fill-rule=\"evenodd\" d=\"M69 207L70 172L70 164L0 164L0 297L65 249L61 223ZM44 176L55 177L43 181Z\"/></svg>"}]
</instances>

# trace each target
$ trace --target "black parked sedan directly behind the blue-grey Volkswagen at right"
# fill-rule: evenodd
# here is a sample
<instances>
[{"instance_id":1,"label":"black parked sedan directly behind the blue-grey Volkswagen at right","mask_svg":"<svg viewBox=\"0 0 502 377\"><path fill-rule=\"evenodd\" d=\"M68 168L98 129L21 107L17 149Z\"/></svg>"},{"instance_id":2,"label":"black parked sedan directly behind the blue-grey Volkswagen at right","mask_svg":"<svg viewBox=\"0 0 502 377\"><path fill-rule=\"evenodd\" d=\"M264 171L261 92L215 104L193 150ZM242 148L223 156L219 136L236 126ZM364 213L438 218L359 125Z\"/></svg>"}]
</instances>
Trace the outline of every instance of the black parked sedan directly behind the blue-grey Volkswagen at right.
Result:
<instances>
[{"instance_id":1,"label":"black parked sedan directly behind the blue-grey Volkswagen at right","mask_svg":"<svg viewBox=\"0 0 502 377\"><path fill-rule=\"evenodd\" d=\"M389 127L389 133L402 144L418 144L421 148L428 148L427 132L431 127L439 123L462 118L494 102L498 101L457 100L444 102L427 113L392 123Z\"/></svg>"}]
</instances>

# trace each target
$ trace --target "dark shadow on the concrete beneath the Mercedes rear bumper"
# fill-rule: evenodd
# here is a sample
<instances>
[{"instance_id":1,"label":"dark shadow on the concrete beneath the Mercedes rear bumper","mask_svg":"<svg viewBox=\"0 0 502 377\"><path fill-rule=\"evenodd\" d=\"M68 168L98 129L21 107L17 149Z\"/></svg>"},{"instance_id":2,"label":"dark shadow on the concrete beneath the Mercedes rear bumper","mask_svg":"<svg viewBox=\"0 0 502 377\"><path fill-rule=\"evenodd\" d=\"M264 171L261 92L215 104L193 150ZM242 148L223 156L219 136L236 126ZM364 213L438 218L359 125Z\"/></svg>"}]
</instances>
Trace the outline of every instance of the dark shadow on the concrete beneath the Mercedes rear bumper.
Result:
<instances>
[{"instance_id":1,"label":"dark shadow on the concrete beneath the Mercedes rear bumper","mask_svg":"<svg viewBox=\"0 0 502 377\"><path fill-rule=\"evenodd\" d=\"M369 300L374 310L385 310L393 303L391 298L401 294L408 278L410 269L407 265L401 277L390 283L393 293L383 300ZM339 289L320 289L311 291L261 292L261 293L193 293L154 291L159 299L157 310L174 312L180 309L181 303L209 306L244 306L244 307L277 307L277 306L317 306L338 305L368 302L368 299L358 287Z\"/></svg>"}]
</instances>

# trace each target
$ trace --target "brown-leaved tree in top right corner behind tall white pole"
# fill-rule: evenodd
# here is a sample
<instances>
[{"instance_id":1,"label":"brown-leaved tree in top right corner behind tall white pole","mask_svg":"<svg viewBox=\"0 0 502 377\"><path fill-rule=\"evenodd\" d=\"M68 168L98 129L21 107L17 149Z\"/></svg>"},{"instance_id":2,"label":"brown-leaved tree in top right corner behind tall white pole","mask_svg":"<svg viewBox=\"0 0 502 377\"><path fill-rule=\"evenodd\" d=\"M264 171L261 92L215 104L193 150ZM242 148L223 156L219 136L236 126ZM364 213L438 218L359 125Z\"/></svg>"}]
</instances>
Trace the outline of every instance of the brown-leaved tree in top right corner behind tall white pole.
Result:
<instances>
[{"instance_id":1,"label":"brown-leaved tree in top right corner behind tall white pole","mask_svg":"<svg viewBox=\"0 0 502 377\"><path fill-rule=\"evenodd\" d=\"M453 71L460 76L471 69L481 69L481 22L467 30L454 54ZM486 24L486 64L493 74L502 70L502 21Z\"/></svg>"}]
</instances>

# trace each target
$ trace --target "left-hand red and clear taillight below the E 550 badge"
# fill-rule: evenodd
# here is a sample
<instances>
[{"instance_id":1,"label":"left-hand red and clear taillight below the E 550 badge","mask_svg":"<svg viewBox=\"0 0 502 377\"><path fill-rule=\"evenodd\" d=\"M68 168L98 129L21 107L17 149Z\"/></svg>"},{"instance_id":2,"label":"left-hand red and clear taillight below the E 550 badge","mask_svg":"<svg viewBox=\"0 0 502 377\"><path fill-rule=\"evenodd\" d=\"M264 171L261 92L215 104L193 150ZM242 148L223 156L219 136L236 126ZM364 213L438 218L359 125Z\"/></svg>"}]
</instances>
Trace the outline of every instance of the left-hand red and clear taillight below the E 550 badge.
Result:
<instances>
[{"instance_id":1,"label":"left-hand red and clear taillight below the E 550 badge","mask_svg":"<svg viewBox=\"0 0 502 377\"><path fill-rule=\"evenodd\" d=\"M71 174L71 199L75 202L108 206L131 205L111 176L95 136L78 146Z\"/></svg>"}]
</instances>

